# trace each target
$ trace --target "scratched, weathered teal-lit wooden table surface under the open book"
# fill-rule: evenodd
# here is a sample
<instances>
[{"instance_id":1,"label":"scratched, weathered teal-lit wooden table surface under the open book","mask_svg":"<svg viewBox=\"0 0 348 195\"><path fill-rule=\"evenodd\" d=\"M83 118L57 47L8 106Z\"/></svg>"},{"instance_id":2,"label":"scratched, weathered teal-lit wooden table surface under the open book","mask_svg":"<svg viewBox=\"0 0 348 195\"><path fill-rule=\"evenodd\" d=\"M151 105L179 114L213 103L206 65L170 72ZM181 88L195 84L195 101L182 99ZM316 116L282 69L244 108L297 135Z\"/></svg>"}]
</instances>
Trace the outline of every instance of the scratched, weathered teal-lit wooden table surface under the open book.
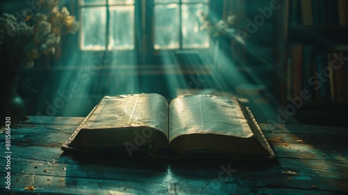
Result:
<instances>
[{"instance_id":1,"label":"scratched, weathered teal-lit wooden table surface under the open book","mask_svg":"<svg viewBox=\"0 0 348 195\"><path fill-rule=\"evenodd\" d=\"M63 153L61 143L83 119L30 116L13 127L10 187L6 139L0 134L0 194L348 192L348 128L260 124L278 157L276 163Z\"/></svg>"}]
</instances>

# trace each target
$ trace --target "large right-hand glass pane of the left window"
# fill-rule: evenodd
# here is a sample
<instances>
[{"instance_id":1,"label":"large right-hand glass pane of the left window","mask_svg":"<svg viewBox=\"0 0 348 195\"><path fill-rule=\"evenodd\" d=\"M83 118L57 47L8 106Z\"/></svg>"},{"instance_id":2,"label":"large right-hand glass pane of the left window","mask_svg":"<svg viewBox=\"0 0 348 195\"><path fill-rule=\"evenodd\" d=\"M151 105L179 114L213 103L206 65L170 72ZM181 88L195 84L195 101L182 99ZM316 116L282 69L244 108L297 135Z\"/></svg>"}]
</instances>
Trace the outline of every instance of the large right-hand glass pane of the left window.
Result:
<instances>
[{"instance_id":1,"label":"large right-hand glass pane of the left window","mask_svg":"<svg viewBox=\"0 0 348 195\"><path fill-rule=\"evenodd\" d=\"M108 49L134 49L134 6L110 7Z\"/></svg>"}]
</instances>

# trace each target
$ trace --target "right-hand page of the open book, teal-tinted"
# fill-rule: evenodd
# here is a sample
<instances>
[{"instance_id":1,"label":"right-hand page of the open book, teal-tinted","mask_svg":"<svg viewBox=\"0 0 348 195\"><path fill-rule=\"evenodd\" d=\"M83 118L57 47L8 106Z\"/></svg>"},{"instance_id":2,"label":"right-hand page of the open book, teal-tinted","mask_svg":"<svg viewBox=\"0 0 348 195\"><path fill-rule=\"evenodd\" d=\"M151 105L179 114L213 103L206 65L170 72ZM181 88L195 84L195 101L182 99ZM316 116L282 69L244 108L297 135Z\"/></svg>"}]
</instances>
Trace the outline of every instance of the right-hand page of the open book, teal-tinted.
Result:
<instances>
[{"instance_id":1,"label":"right-hand page of the open book, teal-tinted","mask_svg":"<svg viewBox=\"0 0 348 195\"><path fill-rule=\"evenodd\" d=\"M171 102L169 116L169 141L184 134L253 136L236 98L180 96Z\"/></svg>"}]
</instances>

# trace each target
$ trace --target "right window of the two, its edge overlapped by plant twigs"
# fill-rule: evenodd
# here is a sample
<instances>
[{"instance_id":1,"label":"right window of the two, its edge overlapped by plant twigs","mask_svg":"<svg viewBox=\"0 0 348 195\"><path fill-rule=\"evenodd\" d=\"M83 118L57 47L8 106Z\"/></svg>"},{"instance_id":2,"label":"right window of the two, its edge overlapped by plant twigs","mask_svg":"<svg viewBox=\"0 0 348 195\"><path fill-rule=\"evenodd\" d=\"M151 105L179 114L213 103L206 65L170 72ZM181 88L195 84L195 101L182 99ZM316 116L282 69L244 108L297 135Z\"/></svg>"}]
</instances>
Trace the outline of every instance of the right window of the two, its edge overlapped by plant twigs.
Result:
<instances>
[{"instance_id":1,"label":"right window of the two, its edge overlapped by plant twigs","mask_svg":"<svg viewBox=\"0 0 348 195\"><path fill-rule=\"evenodd\" d=\"M200 31L208 0L155 0L155 49L209 47L207 32Z\"/></svg>"}]
</instances>

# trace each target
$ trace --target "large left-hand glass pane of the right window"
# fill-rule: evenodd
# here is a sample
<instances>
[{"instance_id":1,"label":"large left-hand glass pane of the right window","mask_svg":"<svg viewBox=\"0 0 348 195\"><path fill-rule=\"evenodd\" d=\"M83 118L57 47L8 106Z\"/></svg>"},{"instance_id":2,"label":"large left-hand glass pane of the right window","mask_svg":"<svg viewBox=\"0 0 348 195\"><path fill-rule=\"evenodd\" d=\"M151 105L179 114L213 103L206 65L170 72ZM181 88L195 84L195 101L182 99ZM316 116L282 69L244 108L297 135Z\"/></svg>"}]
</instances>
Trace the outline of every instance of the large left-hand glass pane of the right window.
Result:
<instances>
[{"instance_id":1,"label":"large left-hand glass pane of the right window","mask_svg":"<svg viewBox=\"0 0 348 195\"><path fill-rule=\"evenodd\" d=\"M155 6L155 49L179 49L179 16L178 4Z\"/></svg>"}]
</instances>

